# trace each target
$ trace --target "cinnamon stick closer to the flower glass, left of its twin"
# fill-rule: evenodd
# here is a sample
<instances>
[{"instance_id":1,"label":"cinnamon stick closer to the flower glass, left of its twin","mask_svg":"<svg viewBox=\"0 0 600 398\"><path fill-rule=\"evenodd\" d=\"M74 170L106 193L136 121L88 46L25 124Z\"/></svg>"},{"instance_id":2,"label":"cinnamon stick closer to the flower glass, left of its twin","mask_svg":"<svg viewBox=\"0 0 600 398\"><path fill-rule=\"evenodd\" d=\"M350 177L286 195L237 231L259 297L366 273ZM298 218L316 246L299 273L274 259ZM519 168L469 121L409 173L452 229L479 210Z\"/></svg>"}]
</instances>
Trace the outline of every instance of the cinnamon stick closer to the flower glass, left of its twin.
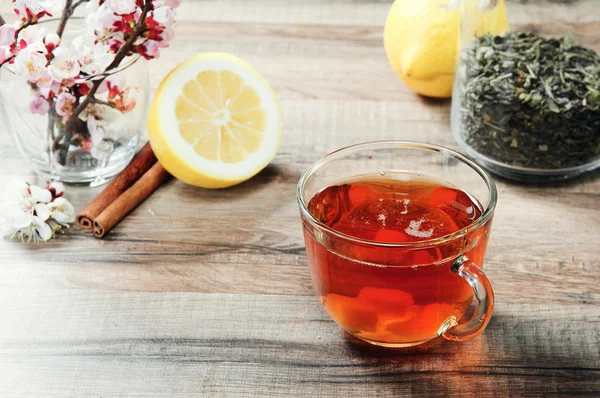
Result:
<instances>
[{"instance_id":1,"label":"cinnamon stick closer to the flower glass, left of its twin","mask_svg":"<svg viewBox=\"0 0 600 398\"><path fill-rule=\"evenodd\" d=\"M133 183L140 179L140 177L156 163L156 156L152 152L150 143L144 145L144 147L135 155L129 166L125 168L119 174L113 182L108 185L104 191L100 193L85 209L83 209L75 221L77 224L85 229L94 228L94 220L102 213L111 203L113 203L119 195L131 187Z\"/></svg>"}]
</instances>

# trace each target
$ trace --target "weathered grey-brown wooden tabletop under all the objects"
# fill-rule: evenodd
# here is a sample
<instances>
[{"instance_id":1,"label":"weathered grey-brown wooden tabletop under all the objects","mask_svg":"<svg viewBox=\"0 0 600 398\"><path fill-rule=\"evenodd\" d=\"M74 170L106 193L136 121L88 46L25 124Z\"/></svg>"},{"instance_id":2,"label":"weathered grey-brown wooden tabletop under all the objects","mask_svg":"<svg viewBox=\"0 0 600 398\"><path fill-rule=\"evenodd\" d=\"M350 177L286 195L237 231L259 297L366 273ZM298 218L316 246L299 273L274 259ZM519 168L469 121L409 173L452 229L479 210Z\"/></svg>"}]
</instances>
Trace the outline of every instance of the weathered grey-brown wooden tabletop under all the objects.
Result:
<instances>
[{"instance_id":1,"label":"weathered grey-brown wooden tabletop under all the objects","mask_svg":"<svg viewBox=\"0 0 600 398\"><path fill-rule=\"evenodd\" d=\"M486 262L497 304L474 340L362 347L313 296L294 191L308 165L366 140L455 146L449 102L416 96L387 64L389 3L184 1L153 85L197 52L237 54L281 98L281 149L231 189L169 182L105 240L73 228L42 245L0 241L0 396L600 395L598 173L498 181ZM564 12L511 6L524 24ZM600 40L598 20L582 23ZM0 159L0 183L43 182L5 132ZM98 192L66 195L81 209Z\"/></svg>"}]
</instances>

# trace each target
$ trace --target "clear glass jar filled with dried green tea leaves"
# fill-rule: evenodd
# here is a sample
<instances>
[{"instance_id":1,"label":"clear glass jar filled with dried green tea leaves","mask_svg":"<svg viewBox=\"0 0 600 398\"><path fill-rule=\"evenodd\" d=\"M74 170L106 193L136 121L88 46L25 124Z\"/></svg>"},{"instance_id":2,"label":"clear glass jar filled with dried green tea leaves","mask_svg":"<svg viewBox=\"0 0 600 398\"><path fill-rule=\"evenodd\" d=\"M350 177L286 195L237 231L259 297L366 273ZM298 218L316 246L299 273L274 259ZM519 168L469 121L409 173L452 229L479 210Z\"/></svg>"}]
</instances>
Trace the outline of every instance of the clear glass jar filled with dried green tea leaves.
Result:
<instances>
[{"instance_id":1,"label":"clear glass jar filled with dried green tea leaves","mask_svg":"<svg viewBox=\"0 0 600 398\"><path fill-rule=\"evenodd\" d=\"M508 2L510 30L491 34L503 0L461 0L452 131L490 171L521 181L600 166L600 7Z\"/></svg>"}]
</instances>

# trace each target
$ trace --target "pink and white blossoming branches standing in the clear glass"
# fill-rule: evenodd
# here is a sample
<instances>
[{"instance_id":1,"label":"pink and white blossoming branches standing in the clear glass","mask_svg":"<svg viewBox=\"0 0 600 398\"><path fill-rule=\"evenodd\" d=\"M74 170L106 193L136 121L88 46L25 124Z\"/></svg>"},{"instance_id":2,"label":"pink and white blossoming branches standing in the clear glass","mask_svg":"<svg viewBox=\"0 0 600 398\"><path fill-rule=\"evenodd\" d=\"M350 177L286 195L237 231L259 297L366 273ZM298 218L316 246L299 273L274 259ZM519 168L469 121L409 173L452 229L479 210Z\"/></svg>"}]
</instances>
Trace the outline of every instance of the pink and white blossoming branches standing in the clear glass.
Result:
<instances>
[{"instance_id":1,"label":"pink and white blossoming branches standing in the clear glass","mask_svg":"<svg viewBox=\"0 0 600 398\"><path fill-rule=\"evenodd\" d=\"M136 106L135 90L117 68L136 54L158 58L173 38L181 0L12 1L19 21L0 25L0 67L12 64L26 78L30 111L47 115L50 160L65 166L69 153L83 150L105 161L128 136L123 115ZM63 41L69 18L82 4L84 33ZM59 12L56 33L34 26Z\"/></svg>"}]
</instances>

